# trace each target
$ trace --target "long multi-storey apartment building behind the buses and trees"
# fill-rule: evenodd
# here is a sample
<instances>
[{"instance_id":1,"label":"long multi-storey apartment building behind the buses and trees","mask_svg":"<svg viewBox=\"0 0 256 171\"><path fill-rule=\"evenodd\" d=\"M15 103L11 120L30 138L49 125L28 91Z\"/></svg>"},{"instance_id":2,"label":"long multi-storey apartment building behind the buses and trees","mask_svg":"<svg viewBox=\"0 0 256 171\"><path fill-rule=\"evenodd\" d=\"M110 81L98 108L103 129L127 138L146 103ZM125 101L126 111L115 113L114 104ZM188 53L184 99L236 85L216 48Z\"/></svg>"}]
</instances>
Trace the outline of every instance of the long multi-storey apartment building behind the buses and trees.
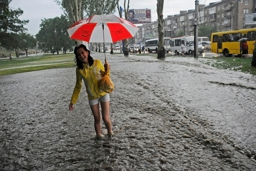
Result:
<instances>
[{"instance_id":1,"label":"long multi-storey apartment building behind the buses and trees","mask_svg":"<svg viewBox=\"0 0 256 171\"><path fill-rule=\"evenodd\" d=\"M246 25L246 14L256 13L256 0L221 0L209 5L199 5L200 26L214 26L219 32L244 28L255 28L256 24ZM164 36L178 36L180 31L185 35L194 35L195 9L180 11L180 14L167 16L164 19ZM139 26L134 36L135 42L158 38L158 22Z\"/></svg>"}]
</instances>

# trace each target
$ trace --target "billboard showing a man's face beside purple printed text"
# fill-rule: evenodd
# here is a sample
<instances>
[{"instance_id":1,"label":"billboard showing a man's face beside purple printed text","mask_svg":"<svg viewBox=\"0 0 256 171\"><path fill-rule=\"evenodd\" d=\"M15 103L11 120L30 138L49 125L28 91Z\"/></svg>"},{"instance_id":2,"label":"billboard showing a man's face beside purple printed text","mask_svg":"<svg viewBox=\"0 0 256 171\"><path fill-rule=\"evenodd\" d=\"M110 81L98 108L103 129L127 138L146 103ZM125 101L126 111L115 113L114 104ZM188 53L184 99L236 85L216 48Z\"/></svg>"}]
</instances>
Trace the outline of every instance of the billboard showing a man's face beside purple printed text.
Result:
<instances>
[{"instance_id":1,"label":"billboard showing a man's face beside purple printed text","mask_svg":"<svg viewBox=\"0 0 256 171\"><path fill-rule=\"evenodd\" d=\"M133 24L151 23L151 9L129 9L128 21Z\"/></svg>"}]
</instances>

